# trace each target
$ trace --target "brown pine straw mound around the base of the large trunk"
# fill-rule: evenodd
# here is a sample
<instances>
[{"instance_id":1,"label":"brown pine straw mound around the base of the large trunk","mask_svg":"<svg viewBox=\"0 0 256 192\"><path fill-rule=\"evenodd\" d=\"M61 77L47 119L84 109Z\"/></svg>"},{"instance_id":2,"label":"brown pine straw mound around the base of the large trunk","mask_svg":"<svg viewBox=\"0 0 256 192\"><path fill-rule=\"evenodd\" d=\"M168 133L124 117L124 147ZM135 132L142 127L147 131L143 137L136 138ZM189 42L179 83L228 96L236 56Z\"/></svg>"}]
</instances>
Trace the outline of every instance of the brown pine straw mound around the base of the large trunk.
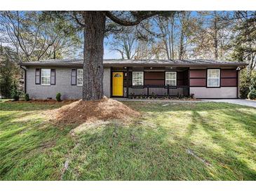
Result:
<instances>
[{"instance_id":1,"label":"brown pine straw mound around the base of the large trunk","mask_svg":"<svg viewBox=\"0 0 256 192\"><path fill-rule=\"evenodd\" d=\"M100 101L72 102L59 109L53 109L48 113L49 118L57 123L85 123L97 120L119 119L130 121L131 118L140 115L139 112L130 109L125 104L116 100L103 98Z\"/></svg>"}]
</instances>

